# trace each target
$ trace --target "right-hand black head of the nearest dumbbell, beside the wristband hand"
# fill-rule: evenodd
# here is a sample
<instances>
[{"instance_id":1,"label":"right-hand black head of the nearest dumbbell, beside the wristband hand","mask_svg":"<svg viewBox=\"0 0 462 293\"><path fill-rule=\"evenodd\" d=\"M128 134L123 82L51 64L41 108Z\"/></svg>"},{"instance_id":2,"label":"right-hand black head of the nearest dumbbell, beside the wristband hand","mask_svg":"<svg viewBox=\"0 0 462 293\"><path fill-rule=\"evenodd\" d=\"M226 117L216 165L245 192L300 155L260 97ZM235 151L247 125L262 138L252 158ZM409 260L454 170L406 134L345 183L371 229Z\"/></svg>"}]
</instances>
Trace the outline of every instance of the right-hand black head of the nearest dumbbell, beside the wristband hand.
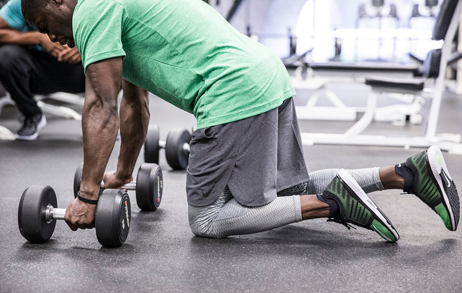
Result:
<instances>
[{"instance_id":1,"label":"right-hand black head of the nearest dumbbell, beside the wristband hand","mask_svg":"<svg viewBox=\"0 0 462 293\"><path fill-rule=\"evenodd\" d=\"M119 247L131 225L130 198L122 189L104 189L98 199L95 228L98 242L105 247Z\"/></svg>"}]
</instances>

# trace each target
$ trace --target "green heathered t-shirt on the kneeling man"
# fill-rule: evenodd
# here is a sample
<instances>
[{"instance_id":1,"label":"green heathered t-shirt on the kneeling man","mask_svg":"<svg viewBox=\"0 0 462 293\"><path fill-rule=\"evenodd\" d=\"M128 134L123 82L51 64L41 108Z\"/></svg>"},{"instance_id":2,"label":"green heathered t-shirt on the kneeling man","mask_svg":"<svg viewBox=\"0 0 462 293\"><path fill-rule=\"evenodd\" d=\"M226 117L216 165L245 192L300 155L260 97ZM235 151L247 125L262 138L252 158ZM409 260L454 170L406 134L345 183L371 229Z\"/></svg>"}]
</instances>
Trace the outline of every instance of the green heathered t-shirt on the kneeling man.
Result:
<instances>
[{"instance_id":1,"label":"green heathered t-shirt on the kneeling man","mask_svg":"<svg viewBox=\"0 0 462 293\"><path fill-rule=\"evenodd\" d=\"M202 0L78 0L73 33L85 69L124 56L124 79L193 113L197 128L295 95L279 58Z\"/></svg>"}]
</instances>

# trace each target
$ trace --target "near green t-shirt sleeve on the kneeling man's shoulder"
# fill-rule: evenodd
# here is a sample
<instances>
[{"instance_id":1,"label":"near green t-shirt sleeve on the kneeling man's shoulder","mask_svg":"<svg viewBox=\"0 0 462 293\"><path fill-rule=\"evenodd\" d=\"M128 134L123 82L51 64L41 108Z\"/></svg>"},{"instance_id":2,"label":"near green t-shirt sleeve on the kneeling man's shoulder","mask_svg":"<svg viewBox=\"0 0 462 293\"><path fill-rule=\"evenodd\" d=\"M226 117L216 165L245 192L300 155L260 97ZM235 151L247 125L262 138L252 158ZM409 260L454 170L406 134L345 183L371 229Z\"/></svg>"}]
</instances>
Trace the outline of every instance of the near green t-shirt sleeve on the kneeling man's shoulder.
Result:
<instances>
[{"instance_id":1,"label":"near green t-shirt sleeve on the kneeling man's shoulder","mask_svg":"<svg viewBox=\"0 0 462 293\"><path fill-rule=\"evenodd\" d=\"M73 34L83 66L113 57L125 56L122 48L124 7L115 1L86 9L84 1L73 14ZM105 2L106 4L106 2Z\"/></svg>"}]
</instances>

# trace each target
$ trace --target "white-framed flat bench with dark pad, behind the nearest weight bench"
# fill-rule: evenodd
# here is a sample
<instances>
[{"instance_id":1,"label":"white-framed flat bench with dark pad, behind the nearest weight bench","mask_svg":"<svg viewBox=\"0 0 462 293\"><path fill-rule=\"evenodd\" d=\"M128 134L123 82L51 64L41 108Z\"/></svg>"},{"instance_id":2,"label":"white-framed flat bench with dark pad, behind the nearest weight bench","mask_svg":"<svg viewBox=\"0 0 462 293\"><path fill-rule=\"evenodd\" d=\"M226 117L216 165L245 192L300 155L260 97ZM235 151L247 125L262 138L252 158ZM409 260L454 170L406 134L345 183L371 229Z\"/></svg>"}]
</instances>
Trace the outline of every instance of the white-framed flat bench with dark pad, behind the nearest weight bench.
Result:
<instances>
[{"instance_id":1,"label":"white-framed flat bench with dark pad, behind the nearest weight bench","mask_svg":"<svg viewBox=\"0 0 462 293\"><path fill-rule=\"evenodd\" d=\"M372 71L380 71L382 77L392 77L398 75L401 78L409 79L420 71L419 64L389 64L375 63L366 64L345 64L340 62L329 62L325 64L310 64L307 65L310 79L303 79L300 75L300 70L296 69L295 74L292 74L292 85L296 90L314 90L314 94L310 96L304 106L296 106L298 119L302 120L335 120L335 121L355 121L360 114L364 113L368 107L348 107L343 101L325 85L332 81L328 76L339 75L339 71L346 75L346 79L337 79L336 82L364 82L366 77ZM326 77L316 77L315 71L322 70ZM328 100L333 104L330 107L316 106L319 95L324 93ZM380 122L392 122L394 125L403 125L403 120L406 115L412 115L412 119L408 122L420 124L422 117L419 111L424 105L423 98L414 98L411 96L391 95L392 98L399 100L400 104L395 104L387 107L376 108L373 120ZM370 96L369 99L374 97ZM403 103L402 103L403 102ZM362 122L364 123L364 121Z\"/></svg>"}]
</instances>

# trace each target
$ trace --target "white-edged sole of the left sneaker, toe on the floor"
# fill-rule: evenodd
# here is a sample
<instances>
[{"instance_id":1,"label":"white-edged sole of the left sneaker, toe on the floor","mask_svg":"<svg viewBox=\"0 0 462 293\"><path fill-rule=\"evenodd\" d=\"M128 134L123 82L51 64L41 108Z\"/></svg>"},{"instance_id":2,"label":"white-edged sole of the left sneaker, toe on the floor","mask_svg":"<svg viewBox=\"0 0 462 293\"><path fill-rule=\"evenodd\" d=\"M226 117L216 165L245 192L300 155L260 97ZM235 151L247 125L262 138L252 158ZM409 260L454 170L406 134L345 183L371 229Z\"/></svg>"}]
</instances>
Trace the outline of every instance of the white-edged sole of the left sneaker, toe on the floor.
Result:
<instances>
[{"instance_id":1,"label":"white-edged sole of the left sneaker, toe on the floor","mask_svg":"<svg viewBox=\"0 0 462 293\"><path fill-rule=\"evenodd\" d=\"M340 169L339 172L337 173L337 177L340 179L340 182L343 184L343 186L348 190L350 195L353 196L354 199L359 201L363 206L365 206L373 215L375 221L372 222L371 226L365 227L369 228L375 232L377 232L382 238L389 242L396 242L400 236L398 235L398 232L395 230L395 227L391 224L390 220L385 216L385 214L382 213L382 211L377 208L377 205L374 203L374 201L371 200L369 196L367 196L364 192L364 190L359 186L359 184L354 180L354 178L344 169ZM386 231L383 231L383 228L380 227L381 224L386 231L390 232L393 234L394 238L390 238L384 233Z\"/></svg>"}]
</instances>

